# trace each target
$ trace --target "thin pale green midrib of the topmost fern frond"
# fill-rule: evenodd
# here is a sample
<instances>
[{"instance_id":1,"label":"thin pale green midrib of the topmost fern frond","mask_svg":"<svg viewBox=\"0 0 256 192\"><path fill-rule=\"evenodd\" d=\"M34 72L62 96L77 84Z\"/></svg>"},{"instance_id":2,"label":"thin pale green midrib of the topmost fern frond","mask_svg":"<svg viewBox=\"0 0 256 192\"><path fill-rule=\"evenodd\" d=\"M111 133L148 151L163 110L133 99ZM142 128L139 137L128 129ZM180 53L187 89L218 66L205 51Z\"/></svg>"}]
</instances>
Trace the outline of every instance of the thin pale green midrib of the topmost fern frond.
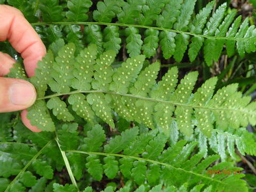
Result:
<instances>
[{"instance_id":1,"label":"thin pale green midrib of the topmost fern frond","mask_svg":"<svg viewBox=\"0 0 256 192\"><path fill-rule=\"evenodd\" d=\"M226 39L226 40L243 40L243 41L250 41L254 38L236 38L236 37L218 37L218 36L207 36L207 35L198 35L191 32L186 31L180 31L175 29L166 29L162 27L151 27L151 26L143 26L143 25L130 25L125 23L107 23L107 22L37 22L37 23L30 23L31 26L44 26L44 25L105 25L105 26L119 26L119 27L137 27L137 28L145 28L145 29L156 29L156 30L162 30L162 31L170 31L173 33L178 34L187 34L191 36L197 36L197 37L203 37L203 38L211 38L211 39Z\"/></svg>"}]
</instances>

